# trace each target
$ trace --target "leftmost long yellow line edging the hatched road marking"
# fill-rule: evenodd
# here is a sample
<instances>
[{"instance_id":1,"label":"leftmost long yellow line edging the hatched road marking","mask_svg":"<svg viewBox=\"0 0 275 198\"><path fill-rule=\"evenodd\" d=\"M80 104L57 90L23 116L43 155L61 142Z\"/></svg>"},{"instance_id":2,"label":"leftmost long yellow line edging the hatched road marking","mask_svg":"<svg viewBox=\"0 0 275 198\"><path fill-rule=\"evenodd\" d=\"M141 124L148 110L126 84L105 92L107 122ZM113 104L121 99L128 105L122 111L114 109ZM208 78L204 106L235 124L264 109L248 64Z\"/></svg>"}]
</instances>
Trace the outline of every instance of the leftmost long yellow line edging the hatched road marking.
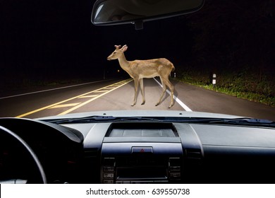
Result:
<instances>
[{"instance_id":1,"label":"leftmost long yellow line edging the hatched road marking","mask_svg":"<svg viewBox=\"0 0 275 198\"><path fill-rule=\"evenodd\" d=\"M117 84L120 84L120 83L123 83L122 85L120 85L120 86L123 86L124 84L126 84L126 83L129 83L130 81L133 81L133 79L128 79L128 80L125 80L125 81L120 81L120 82L118 82L118 83L114 83L114 84L111 84L111 85L109 85L109 86L114 86L114 85L117 85ZM109 86L106 86L106 87L109 87ZM49 108L51 108L51 107L54 107L54 106L56 106L56 105L60 105L60 104L62 104L62 103L66 103L66 102L68 102L68 101L70 101L70 100L73 100L73 99L76 99L76 98L80 98L80 97L82 97L82 96L84 96L84 95L87 95L87 94L90 94L90 93L94 93L95 91L99 91L99 90L102 90L102 89L104 89L104 88L106 88L106 87L103 87L103 88L99 88L99 89L97 89L97 90L94 90L94 91L90 91L90 92L88 92L88 93L83 93L83 94L81 94L81 95L77 95L77 96L75 96L75 97L73 97L73 98L68 98L68 99L66 99L66 100L62 100L62 101L60 101L59 103L54 103L54 104L52 104L52 105L48 105L48 106L46 106L46 107L41 107L41 108L39 108L39 109L37 109L37 110L33 110L33 111L31 111L31 112L26 112L26 113L24 113L24 114L22 114L22 115L18 115L18 116L16 116L16 117L25 117L25 116L27 116L27 115L31 115L31 114L33 114L33 113L35 113L35 112L39 112L39 111L42 111L42 110L46 110L46 109L49 109ZM118 87L117 87L118 88ZM115 88L114 88L115 89ZM111 90L112 91L112 90ZM106 93L104 93L104 94L102 94L102 95L105 95ZM96 98L92 98L93 100L95 100L95 99L97 99L97 98L99 98L100 96L102 96L102 95L98 95ZM90 103L90 102L89 102Z\"/></svg>"}]
</instances>

